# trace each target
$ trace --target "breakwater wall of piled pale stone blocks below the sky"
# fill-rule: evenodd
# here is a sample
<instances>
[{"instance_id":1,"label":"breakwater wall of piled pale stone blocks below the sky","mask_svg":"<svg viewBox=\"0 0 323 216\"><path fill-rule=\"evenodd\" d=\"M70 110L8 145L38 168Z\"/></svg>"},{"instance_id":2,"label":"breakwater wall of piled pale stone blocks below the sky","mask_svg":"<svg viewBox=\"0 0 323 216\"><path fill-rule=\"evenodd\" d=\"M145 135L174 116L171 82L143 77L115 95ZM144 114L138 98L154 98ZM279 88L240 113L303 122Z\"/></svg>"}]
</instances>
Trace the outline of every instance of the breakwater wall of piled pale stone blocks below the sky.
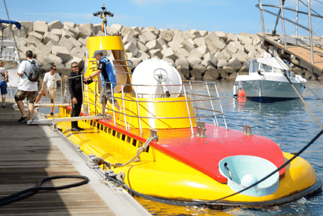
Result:
<instances>
[{"instance_id":1,"label":"breakwater wall of piled pale stone blocks below the sky","mask_svg":"<svg viewBox=\"0 0 323 216\"><path fill-rule=\"evenodd\" d=\"M78 62L83 69L86 39L91 33L104 36L101 23L78 25L60 21L24 21L21 25L19 54L23 59L28 49L33 51L42 73L55 64L58 73L68 75L71 62ZM3 35L12 38L9 25L2 26L5 27ZM12 30L18 36L15 26ZM196 29L182 32L178 29L126 27L119 24L108 26L107 32L122 36L127 58L132 61L133 67L146 59L159 58L172 62L183 80L235 80L237 72L247 73L249 60L258 58L264 51L257 34L235 35ZM307 71L300 68L295 70L309 80L312 78Z\"/></svg>"}]
</instances>

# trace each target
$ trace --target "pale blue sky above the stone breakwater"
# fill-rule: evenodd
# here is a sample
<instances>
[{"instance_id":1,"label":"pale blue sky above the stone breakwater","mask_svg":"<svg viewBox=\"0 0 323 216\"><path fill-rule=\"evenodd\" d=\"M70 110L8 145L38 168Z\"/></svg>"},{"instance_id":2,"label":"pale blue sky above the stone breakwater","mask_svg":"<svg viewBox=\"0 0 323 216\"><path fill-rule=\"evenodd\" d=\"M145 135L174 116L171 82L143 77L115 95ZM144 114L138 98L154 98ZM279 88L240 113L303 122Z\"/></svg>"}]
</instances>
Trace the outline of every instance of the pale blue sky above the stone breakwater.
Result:
<instances>
[{"instance_id":1,"label":"pale blue sky above the stone breakwater","mask_svg":"<svg viewBox=\"0 0 323 216\"><path fill-rule=\"evenodd\" d=\"M307 0L302 0L307 3ZM263 0L263 4L279 5L279 0ZM187 29L223 31L233 34L261 32L260 12L255 5L258 0L6 0L10 19L16 21L70 21L77 24L101 23L93 12L101 10L102 3L114 13L108 17L107 25L118 23L127 27L153 26L158 29ZM312 9L323 16L323 0L311 0ZM296 0L286 0L285 7L296 8ZM277 13L278 8L268 8ZM300 9L307 11L302 3ZM296 15L284 11L284 15L295 21ZM0 19L7 19L3 1L0 3ZM264 14L266 32L274 29L275 18ZM300 16L299 22L307 25L307 17ZM323 19L312 18L315 34L322 36ZM277 32L282 32L281 21ZM295 34L295 28L287 25L287 34ZM307 33L300 30L300 35ZM308 35L308 34L307 34Z\"/></svg>"}]
</instances>

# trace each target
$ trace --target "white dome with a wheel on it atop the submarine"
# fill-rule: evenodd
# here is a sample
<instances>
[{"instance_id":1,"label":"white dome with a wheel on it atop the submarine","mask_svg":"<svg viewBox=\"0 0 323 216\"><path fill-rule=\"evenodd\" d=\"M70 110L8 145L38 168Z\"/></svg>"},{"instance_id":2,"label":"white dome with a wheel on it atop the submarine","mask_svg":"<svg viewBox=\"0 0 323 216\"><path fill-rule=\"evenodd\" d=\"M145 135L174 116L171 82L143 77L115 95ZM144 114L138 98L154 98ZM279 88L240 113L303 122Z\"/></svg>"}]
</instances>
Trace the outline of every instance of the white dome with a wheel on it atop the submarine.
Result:
<instances>
[{"instance_id":1,"label":"white dome with a wheel on it atop the submarine","mask_svg":"<svg viewBox=\"0 0 323 216\"><path fill-rule=\"evenodd\" d=\"M144 60L132 74L132 84L139 97L179 97L181 75L170 63L157 58Z\"/></svg>"}]
</instances>

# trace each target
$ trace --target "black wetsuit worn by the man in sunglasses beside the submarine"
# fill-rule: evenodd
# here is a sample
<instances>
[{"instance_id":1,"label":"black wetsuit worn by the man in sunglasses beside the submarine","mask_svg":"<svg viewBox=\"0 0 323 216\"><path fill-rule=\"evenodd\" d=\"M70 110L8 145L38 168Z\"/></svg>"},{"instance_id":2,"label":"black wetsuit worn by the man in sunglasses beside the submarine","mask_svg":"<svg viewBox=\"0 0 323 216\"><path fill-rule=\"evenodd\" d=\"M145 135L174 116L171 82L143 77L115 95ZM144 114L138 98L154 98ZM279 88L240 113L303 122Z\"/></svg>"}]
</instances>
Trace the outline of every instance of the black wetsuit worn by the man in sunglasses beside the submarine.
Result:
<instances>
[{"instance_id":1,"label":"black wetsuit worn by the man in sunglasses beside the submarine","mask_svg":"<svg viewBox=\"0 0 323 216\"><path fill-rule=\"evenodd\" d=\"M74 71L70 72L68 76L68 90L70 91L70 99L72 100L72 113L70 117L79 117L81 113L81 107L83 103L83 95L82 95L82 85L83 85L83 77L80 76L81 73L75 73ZM74 78L73 78L74 77ZM93 80L90 79L86 84L92 83ZM73 97L77 99L77 104L73 103ZM77 127L77 121L72 121L72 128Z\"/></svg>"}]
</instances>

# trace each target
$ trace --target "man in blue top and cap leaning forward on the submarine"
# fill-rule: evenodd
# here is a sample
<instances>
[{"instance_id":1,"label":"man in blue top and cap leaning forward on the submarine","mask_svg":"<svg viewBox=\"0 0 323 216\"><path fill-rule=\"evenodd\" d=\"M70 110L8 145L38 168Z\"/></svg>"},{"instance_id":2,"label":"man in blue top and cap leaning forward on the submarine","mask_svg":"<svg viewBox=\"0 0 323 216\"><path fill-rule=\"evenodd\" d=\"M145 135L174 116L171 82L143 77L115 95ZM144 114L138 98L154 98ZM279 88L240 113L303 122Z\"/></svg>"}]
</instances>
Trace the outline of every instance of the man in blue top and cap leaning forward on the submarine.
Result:
<instances>
[{"instance_id":1,"label":"man in blue top and cap leaning forward on the submarine","mask_svg":"<svg viewBox=\"0 0 323 216\"><path fill-rule=\"evenodd\" d=\"M114 99L112 95L111 86L112 88L116 86L116 75L114 75L114 71L112 69L112 62L110 62L107 57L103 56L101 50L94 51L94 55L92 58L95 58L97 61L99 61L98 71L86 77L84 81L86 82L92 77L95 77L96 75L101 75L101 79L103 82L103 88L100 93L100 103L102 104L102 111L99 115L103 115L107 101L109 101L109 103L112 104L112 99ZM116 99L114 99L114 106L116 106L116 108L120 110L120 106Z\"/></svg>"}]
</instances>

